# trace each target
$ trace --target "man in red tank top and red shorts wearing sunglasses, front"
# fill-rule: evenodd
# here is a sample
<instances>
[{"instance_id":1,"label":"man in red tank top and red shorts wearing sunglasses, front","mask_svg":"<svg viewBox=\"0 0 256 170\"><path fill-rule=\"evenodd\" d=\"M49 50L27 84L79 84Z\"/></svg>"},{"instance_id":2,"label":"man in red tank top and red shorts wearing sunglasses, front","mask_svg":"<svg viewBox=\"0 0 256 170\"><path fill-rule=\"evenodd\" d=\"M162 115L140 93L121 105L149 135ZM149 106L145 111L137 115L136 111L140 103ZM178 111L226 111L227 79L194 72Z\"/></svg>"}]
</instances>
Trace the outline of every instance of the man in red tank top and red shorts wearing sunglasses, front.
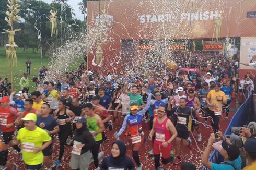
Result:
<instances>
[{"instance_id":1,"label":"man in red tank top and red shorts wearing sunglasses, front","mask_svg":"<svg viewBox=\"0 0 256 170\"><path fill-rule=\"evenodd\" d=\"M153 120L153 128L148 138L152 140L152 136L156 134L154 141L153 153L155 160L155 168L160 166L160 152L162 153L162 163L167 164L173 160L171 157L171 142L178 135L176 128L171 120L167 118L165 106L159 106L157 117ZM172 134L172 135L171 135Z\"/></svg>"}]
</instances>

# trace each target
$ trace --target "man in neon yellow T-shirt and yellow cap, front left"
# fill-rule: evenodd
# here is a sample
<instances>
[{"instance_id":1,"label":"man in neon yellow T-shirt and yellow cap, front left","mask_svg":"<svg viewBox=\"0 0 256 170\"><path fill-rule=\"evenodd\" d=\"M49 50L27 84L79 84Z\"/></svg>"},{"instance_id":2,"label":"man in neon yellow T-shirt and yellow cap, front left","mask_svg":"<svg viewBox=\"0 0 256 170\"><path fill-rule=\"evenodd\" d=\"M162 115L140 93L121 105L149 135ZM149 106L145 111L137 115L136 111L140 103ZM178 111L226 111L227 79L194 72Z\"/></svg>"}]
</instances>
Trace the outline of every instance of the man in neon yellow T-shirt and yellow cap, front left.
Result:
<instances>
[{"instance_id":1,"label":"man in neon yellow T-shirt and yellow cap, front left","mask_svg":"<svg viewBox=\"0 0 256 170\"><path fill-rule=\"evenodd\" d=\"M13 140L12 144L21 145L27 169L41 169L42 150L52 143L52 138L45 130L36 126L36 114L28 113L22 120L24 120L25 127L18 131L17 140Z\"/></svg>"}]
</instances>

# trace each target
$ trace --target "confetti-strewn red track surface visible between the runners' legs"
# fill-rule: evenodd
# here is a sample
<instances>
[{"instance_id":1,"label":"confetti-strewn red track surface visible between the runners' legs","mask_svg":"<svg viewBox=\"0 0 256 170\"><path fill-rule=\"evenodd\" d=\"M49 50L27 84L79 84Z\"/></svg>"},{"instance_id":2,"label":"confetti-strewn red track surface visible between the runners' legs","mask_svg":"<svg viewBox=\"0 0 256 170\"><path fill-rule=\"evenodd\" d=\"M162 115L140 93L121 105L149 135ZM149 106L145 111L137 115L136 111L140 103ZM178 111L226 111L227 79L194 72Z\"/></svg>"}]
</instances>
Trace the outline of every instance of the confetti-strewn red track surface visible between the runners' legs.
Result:
<instances>
[{"instance_id":1,"label":"confetti-strewn red track surface visible between the runners' legs","mask_svg":"<svg viewBox=\"0 0 256 170\"><path fill-rule=\"evenodd\" d=\"M234 105L234 104L232 104ZM234 108L234 107L233 107ZM225 115L223 114L222 118L220 118L220 130L222 132L225 132L232 116L234 115L234 113L231 113L229 115L229 121L226 121L224 119ZM200 122L204 122L203 118L199 118ZM208 119L208 125L210 125L210 120ZM115 126L115 125L114 125ZM202 164L200 163L201 160L201 154L203 154L204 148L207 145L208 142L208 137L210 136L210 134L212 133L212 129L211 128L205 128L202 124L199 125L200 129L201 129L201 134L202 134L202 141L201 142L197 142L198 144L198 148L196 146L196 142L193 139L193 136L195 137L196 141L197 141L197 133L196 131L194 131L192 134L193 136L190 134L190 137L192 139L192 144L193 144L193 148L192 150L190 150L188 147L182 147L181 145L181 159L182 162L192 162L196 165L197 169L201 169L202 168ZM110 154L110 148L111 148L111 144L113 143L113 141L115 140L113 134L117 129L113 129L112 131L107 130L106 134L108 137L108 140L105 141L102 144L102 150L105 152L104 157ZM154 157L149 155L148 152L150 151L150 149L152 149L152 142L149 141L147 139L148 133L149 133L149 123L143 123L143 131L145 133L145 137L146 140L144 141L144 145L141 148L141 150L139 151L139 156L140 156L140 160L143 163L143 169L155 169L154 168ZM122 135L120 137L121 140L123 141L128 141L127 137L125 137L125 135ZM59 155L59 141L55 138L54 140L54 147L53 147L53 155L52 158L53 160L57 159L58 155ZM175 146L175 142L172 142L173 145L173 150L174 146ZM71 156L71 147L66 147L65 148L65 152L62 158L62 164L60 166L60 169L71 169L69 168L68 164L69 164L69 160L70 160L70 156ZM201 154L200 154L201 153ZM132 157L132 152L131 149L129 147L127 147L127 155L129 157ZM18 165L19 169L25 169L25 165L22 162L19 162L19 157L18 154L15 150L13 150L13 148L9 149L9 161L12 163L15 163ZM135 162L134 162L134 165ZM180 169L180 165L172 165L172 164L167 164L165 167L165 169ZM91 166L89 169L94 169L94 165L93 163L91 163Z\"/></svg>"}]
</instances>

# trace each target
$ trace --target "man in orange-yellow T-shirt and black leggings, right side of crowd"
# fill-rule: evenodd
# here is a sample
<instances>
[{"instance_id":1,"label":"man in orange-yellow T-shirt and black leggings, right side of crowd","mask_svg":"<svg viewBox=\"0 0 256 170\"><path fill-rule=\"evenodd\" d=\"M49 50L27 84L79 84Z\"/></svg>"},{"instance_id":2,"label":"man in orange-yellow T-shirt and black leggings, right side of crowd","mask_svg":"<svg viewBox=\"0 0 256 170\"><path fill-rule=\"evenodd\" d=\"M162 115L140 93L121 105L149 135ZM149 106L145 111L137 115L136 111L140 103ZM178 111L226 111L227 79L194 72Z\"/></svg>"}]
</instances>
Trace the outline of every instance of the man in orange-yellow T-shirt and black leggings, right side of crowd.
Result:
<instances>
[{"instance_id":1,"label":"man in orange-yellow T-shirt and black leggings, right side of crowd","mask_svg":"<svg viewBox=\"0 0 256 170\"><path fill-rule=\"evenodd\" d=\"M213 119L213 131L216 133L219 130L219 117L222 115L222 105L227 104L227 98L223 91L220 91L220 83L215 84L215 89L207 94L206 103L209 105L208 114Z\"/></svg>"}]
</instances>

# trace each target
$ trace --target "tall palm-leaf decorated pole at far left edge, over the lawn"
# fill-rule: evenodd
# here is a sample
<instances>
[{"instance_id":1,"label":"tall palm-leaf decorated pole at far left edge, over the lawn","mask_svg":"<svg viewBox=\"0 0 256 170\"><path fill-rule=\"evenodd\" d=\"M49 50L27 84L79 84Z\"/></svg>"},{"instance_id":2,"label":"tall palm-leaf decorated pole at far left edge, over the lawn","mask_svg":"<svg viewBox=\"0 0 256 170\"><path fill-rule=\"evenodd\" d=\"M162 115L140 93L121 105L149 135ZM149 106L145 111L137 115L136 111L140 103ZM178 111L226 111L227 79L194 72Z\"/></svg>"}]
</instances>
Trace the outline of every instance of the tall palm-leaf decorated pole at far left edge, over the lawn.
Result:
<instances>
[{"instance_id":1,"label":"tall palm-leaf decorated pole at far left edge, over the lawn","mask_svg":"<svg viewBox=\"0 0 256 170\"><path fill-rule=\"evenodd\" d=\"M14 29L14 22L20 19L20 16L17 14L19 13L18 7L20 7L19 4L17 4L17 0L8 0L7 4L7 11L5 17L5 21L10 26L9 30L5 30L3 33L8 33L8 44L5 45L6 50L6 60L10 64L10 82L11 82L11 89L13 89L13 67L14 65L17 67L17 48L18 45L14 42L14 35L16 31L20 31L21 29Z\"/></svg>"}]
</instances>

